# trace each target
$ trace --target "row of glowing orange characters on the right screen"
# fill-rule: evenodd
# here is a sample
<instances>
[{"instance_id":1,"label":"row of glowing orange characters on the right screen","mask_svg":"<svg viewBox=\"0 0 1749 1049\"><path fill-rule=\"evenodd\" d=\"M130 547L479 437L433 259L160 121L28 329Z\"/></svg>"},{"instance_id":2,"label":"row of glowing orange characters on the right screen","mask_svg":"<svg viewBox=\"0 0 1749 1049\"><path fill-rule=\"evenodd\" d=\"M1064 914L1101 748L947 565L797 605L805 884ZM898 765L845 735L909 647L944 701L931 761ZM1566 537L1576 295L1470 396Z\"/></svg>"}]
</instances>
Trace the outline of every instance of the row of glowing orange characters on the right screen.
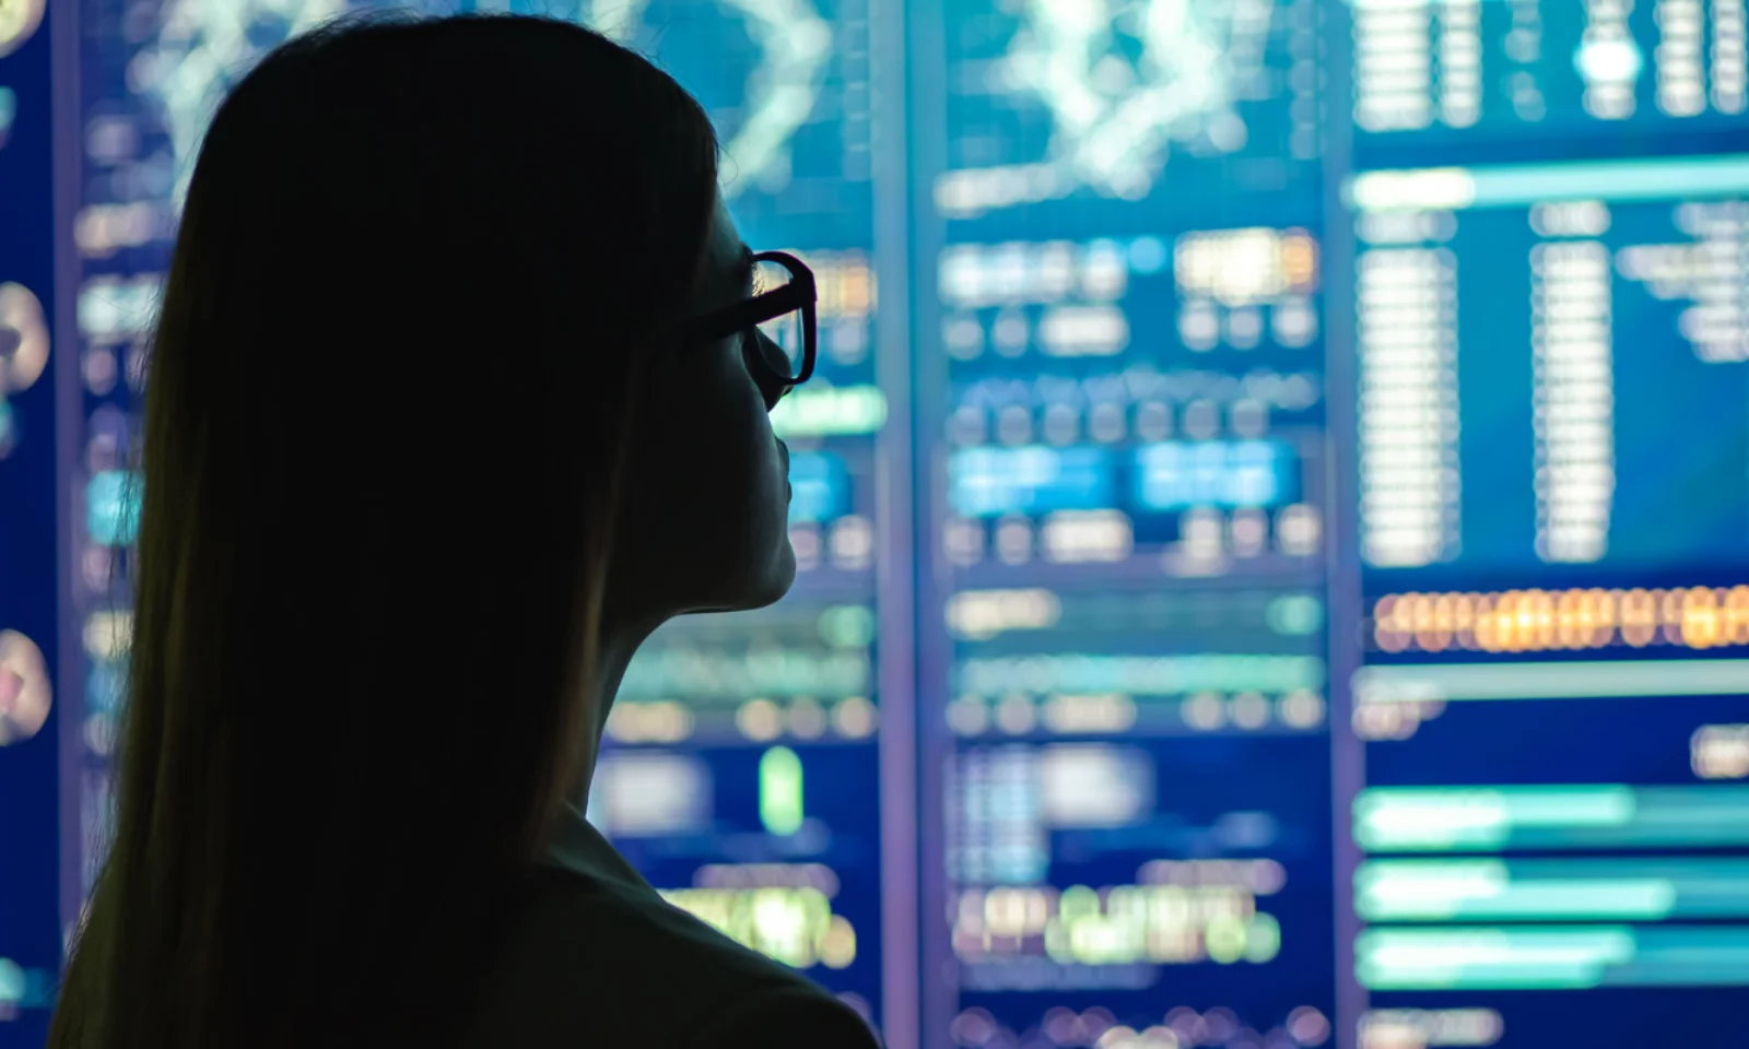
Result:
<instances>
[{"instance_id":1,"label":"row of glowing orange characters on the right screen","mask_svg":"<svg viewBox=\"0 0 1749 1049\"><path fill-rule=\"evenodd\" d=\"M1387 594L1373 605L1373 643L1385 652L1749 645L1749 586Z\"/></svg>"}]
</instances>

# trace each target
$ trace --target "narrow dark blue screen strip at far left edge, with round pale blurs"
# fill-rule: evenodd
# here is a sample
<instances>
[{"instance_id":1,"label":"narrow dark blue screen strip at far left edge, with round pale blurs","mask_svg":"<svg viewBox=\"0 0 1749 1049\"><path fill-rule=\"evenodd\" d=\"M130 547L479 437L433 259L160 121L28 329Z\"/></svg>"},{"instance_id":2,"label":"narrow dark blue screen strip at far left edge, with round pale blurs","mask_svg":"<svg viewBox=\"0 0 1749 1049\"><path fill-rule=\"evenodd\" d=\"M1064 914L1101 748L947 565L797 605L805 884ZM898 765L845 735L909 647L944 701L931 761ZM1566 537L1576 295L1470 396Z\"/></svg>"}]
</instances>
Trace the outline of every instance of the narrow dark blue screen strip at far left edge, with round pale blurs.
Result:
<instances>
[{"instance_id":1,"label":"narrow dark blue screen strip at far left edge, with round pale blurs","mask_svg":"<svg viewBox=\"0 0 1749 1049\"><path fill-rule=\"evenodd\" d=\"M73 362L54 309L56 84L40 0L0 12L0 1044L40 1046L61 970L63 694L54 538L59 404ZM65 339L65 343L63 343ZM63 360L65 358L65 360Z\"/></svg>"}]
</instances>

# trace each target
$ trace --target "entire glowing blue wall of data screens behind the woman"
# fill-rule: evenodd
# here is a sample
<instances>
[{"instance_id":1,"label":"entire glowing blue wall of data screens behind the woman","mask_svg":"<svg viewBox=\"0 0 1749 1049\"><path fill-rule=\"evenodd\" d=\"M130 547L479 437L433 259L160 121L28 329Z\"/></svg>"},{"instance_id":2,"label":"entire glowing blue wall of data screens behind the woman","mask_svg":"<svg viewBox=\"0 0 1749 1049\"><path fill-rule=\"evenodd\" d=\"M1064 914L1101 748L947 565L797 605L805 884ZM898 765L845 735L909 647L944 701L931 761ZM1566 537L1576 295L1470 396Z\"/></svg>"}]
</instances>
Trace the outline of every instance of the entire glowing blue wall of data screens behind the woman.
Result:
<instances>
[{"instance_id":1,"label":"entire glowing blue wall of data screens behind the woman","mask_svg":"<svg viewBox=\"0 0 1749 1049\"><path fill-rule=\"evenodd\" d=\"M63 927L194 150L357 7L61 16L72 283L0 250L0 486L59 514L0 512L0 762L56 726ZM462 3L658 61L817 276L796 586L649 640L589 818L892 1049L1749 1039L1744 9ZM0 210L51 154L3 14ZM52 972L5 935L0 1032Z\"/></svg>"}]
</instances>

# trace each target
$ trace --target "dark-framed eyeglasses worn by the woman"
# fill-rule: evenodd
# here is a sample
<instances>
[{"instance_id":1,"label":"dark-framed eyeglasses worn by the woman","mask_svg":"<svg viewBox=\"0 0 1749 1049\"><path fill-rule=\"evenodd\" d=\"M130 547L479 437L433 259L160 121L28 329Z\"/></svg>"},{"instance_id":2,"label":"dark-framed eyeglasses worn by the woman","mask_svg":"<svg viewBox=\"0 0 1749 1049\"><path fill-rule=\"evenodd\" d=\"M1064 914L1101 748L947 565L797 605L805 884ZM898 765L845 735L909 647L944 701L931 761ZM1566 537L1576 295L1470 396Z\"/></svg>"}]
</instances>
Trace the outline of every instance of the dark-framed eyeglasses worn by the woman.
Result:
<instances>
[{"instance_id":1,"label":"dark-framed eyeglasses worn by the woman","mask_svg":"<svg viewBox=\"0 0 1749 1049\"><path fill-rule=\"evenodd\" d=\"M714 343L742 336L742 355L766 407L813 376L817 344L813 271L787 252L752 257L754 297L682 322L677 336Z\"/></svg>"}]
</instances>

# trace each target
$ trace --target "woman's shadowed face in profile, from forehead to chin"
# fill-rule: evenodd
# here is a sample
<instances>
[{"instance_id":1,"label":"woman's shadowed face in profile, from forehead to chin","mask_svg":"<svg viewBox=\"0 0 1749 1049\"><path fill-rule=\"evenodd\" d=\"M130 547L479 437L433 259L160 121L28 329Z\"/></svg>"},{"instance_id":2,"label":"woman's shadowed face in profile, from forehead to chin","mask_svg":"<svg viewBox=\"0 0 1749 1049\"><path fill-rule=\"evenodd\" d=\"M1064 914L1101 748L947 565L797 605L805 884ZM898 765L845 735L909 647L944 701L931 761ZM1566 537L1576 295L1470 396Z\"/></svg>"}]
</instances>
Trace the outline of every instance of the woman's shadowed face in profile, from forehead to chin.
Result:
<instances>
[{"instance_id":1,"label":"woman's shadowed face in profile, from forehead to chin","mask_svg":"<svg viewBox=\"0 0 1749 1049\"><path fill-rule=\"evenodd\" d=\"M752 295L747 245L721 199L693 301ZM757 608L796 579L789 449L738 336L656 350L635 407L607 601L635 619Z\"/></svg>"}]
</instances>

